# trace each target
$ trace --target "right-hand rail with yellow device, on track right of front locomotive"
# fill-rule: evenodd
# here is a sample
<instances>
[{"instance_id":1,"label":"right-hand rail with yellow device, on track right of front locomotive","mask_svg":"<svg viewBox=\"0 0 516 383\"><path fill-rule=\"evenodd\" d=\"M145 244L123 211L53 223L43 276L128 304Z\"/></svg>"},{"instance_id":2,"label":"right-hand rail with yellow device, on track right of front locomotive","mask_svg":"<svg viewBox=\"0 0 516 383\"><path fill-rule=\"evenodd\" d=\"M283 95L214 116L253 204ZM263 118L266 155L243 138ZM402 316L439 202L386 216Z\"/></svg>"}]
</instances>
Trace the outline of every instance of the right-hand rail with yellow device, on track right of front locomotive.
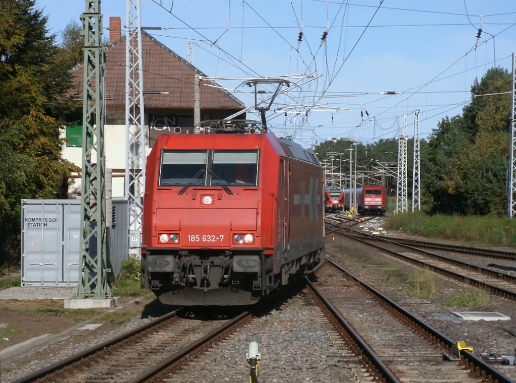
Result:
<instances>
[{"instance_id":1,"label":"right-hand rail with yellow device, on track right of front locomotive","mask_svg":"<svg viewBox=\"0 0 516 383\"><path fill-rule=\"evenodd\" d=\"M342 266L338 265L328 257L326 260L341 270L344 274L349 276L349 278L353 279L357 283L359 283L363 288L368 290L369 292L373 293L375 296L381 299L381 301L385 302L389 307L391 307L393 310L400 313L402 316L409 318L409 320L413 323L415 323L418 327L423 329L426 333L430 334L434 339L438 341L438 343L442 346L443 349L446 350L447 356L457 356L461 358L461 361L466 365L467 368L470 368L470 371L474 372L476 376L485 376L485 377L491 377L491 381L495 381L497 383L514 383L512 379L507 377L506 375L502 374L498 370L494 369L490 364L483 361L482 359L478 358L475 354L470 353L467 350L461 349L459 350L456 346L456 343L448 338L445 334L442 332L434 329L432 326L427 324L426 322L422 321L420 318L412 314L411 312L407 311L403 307L399 306L391 300L390 298L386 297L382 293L380 293L378 290L373 288L372 286L368 285L358 277L354 276L348 270L343 268ZM483 373L482 373L483 372Z\"/></svg>"}]
</instances>

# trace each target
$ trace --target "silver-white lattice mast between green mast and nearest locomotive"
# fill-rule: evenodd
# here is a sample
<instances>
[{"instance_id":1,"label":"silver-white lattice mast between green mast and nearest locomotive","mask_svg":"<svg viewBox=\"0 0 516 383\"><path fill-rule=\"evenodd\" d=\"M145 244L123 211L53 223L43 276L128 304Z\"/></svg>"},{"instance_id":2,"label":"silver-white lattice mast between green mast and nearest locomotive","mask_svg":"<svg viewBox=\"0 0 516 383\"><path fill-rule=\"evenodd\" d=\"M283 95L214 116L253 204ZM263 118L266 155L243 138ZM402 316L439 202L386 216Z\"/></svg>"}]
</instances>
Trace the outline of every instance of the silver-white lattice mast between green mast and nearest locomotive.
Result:
<instances>
[{"instance_id":1,"label":"silver-white lattice mast between green mast and nearest locomotive","mask_svg":"<svg viewBox=\"0 0 516 383\"><path fill-rule=\"evenodd\" d=\"M140 0L127 0L125 38L125 126L127 162L125 193L128 203L128 240L131 256L140 254L145 185L145 114L141 49Z\"/></svg>"}]
</instances>

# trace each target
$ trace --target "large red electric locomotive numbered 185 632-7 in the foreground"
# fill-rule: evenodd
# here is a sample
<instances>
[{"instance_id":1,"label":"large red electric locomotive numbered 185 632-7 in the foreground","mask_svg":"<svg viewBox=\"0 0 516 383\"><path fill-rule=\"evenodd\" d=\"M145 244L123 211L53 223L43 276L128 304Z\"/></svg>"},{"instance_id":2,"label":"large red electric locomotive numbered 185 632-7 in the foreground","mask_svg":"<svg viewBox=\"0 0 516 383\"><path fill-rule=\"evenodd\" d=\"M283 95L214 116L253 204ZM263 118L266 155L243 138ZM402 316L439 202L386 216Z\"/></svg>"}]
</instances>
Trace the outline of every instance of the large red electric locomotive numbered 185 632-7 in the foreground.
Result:
<instances>
[{"instance_id":1,"label":"large red electric locomotive numbered 185 632-7 in the foreground","mask_svg":"<svg viewBox=\"0 0 516 383\"><path fill-rule=\"evenodd\" d=\"M159 136L147 159L144 287L170 305L254 304L324 259L323 169L256 121L195 131Z\"/></svg>"}]
</instances>

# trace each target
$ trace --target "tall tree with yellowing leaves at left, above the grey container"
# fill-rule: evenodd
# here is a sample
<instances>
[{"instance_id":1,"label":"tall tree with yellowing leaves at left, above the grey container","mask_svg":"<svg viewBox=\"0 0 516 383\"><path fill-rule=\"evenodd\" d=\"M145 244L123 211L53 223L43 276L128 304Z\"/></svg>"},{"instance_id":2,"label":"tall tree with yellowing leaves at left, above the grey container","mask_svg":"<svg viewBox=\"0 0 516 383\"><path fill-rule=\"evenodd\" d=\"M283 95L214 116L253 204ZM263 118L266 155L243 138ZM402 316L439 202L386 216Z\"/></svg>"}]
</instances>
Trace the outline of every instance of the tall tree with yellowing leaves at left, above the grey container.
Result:
<instances>
[{"instance_id":1,"label":"tall tree with yellowing leaves at left, above the grey container","mask_svg":"<svg viewBox=\"0 0 516 383\"><path fill-rule=\"evenodd\" d=\"M57 113L75 103L46 22L35 0L0 2L0 261L20 233L20 200L63 197L71 170L80 170L60 154Z\"/></svg>"}]
</instances>

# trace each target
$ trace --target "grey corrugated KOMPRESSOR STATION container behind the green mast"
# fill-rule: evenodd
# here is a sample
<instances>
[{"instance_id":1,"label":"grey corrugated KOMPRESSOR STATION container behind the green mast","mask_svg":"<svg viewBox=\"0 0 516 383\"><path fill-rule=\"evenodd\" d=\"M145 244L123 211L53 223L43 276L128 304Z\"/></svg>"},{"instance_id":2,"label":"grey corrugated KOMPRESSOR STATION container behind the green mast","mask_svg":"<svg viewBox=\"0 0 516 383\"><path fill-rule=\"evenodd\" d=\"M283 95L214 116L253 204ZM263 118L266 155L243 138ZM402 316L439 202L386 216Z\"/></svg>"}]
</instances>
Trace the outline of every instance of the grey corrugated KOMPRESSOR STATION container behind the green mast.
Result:
<instances>
[{"instance_id":1,"label":"grey corrugated KOMPRESSOR STATION container behind the green mast","mask_svg":"<svg viewBox=\"0 0 516 383\"><path fill-rule=\"evenodd\" d=\"M127 258L127 200L112 199L107 258L114 276ZM22 200L21 286L76 286L80 258L80 200Z\"/></svg>"}]
</instances>

